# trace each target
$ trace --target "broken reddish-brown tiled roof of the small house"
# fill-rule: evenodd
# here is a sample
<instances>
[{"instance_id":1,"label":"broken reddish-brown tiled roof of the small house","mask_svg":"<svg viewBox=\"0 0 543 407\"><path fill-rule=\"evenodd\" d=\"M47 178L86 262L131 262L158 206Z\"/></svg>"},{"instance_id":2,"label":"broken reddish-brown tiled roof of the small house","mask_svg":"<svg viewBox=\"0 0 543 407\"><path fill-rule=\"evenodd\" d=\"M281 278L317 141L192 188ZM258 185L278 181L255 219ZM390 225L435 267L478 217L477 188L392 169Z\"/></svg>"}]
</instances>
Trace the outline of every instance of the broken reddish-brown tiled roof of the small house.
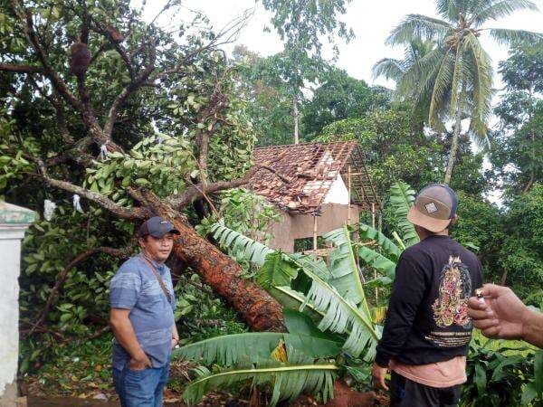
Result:
<instances>
[{"instance_id":1,"label":"broken reddish-brown tiled roof of the small house","mask_svg":"<svg viewBox=\"0 0 543 407\"><path fill-rule=\"evenodd\" d=\"M256 171L249 186L284 211L319 214L338 175L348 185L349 166L351 203L370 209L378 202L357 141L258 147L254 164L268 168Z\"/></svg>"}]
</instances>

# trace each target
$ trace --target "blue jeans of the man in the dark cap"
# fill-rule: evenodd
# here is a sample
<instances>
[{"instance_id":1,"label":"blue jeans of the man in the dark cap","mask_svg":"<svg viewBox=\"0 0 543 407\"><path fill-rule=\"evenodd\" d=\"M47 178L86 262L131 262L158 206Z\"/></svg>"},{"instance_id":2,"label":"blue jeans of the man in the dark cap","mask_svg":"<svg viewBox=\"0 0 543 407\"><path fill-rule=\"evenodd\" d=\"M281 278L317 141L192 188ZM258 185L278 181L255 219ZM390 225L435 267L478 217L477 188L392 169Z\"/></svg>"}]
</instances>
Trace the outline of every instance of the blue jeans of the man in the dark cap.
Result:
<instances>
[{"instance_id":1,"label":"blue jeans of the man in the dark cap","mask_svg":"<svg viewBox=\"0 0 543 407\"><path fill-rule=\"evenodd\" d=\"M167 383L169 364L131 370L113 368L113 385L119 394L121 407L162 407L162 393Z\"/></svg>"}]
</instances>

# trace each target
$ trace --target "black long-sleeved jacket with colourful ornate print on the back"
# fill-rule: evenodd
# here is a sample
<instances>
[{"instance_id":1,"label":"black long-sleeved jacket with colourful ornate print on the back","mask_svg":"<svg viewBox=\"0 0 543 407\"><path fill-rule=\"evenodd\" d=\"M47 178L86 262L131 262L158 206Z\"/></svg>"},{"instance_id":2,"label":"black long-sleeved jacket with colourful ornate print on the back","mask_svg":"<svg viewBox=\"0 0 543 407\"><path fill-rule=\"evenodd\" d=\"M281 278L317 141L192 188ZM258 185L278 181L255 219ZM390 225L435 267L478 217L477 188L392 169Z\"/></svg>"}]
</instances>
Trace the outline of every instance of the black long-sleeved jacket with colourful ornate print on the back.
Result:
<instances>
[{"instance_id":1,"label":"black long-sleeved jacket with colourful ornate print on the back","mask_svg":"<svg viewBox=\"0 0 543 407\"><path fill-rule=\"evenodd\" d=\"M481 262L449 236L430 236L398 261L376 364L432 364L467 355L468 298L481 287Z\"/></svg>"}]
</instances>

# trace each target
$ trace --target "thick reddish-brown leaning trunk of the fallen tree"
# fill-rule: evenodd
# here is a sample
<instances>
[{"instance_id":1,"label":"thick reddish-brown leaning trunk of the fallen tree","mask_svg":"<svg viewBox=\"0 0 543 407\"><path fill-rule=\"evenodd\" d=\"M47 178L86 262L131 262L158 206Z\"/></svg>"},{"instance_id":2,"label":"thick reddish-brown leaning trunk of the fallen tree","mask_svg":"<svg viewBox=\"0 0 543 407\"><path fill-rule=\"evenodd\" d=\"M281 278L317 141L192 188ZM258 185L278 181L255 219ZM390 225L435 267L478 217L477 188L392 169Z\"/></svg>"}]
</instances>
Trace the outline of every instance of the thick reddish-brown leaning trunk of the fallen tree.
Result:
<instances>
[{"instance_id":1,"label":"thick reddish-brown leaning trunk of the fallen tree","mask_svg":"<svg viewBox=\"0 0 543 407\"><path fill-rule=\"evenodd\" d=\"M156 195L148 192L142 195L153 212L170 219L181 233L174 244L174 255L195 270L254 330L285 331L281 305L251 280L243 279L239 264L206 241Z\"/></svg>"}]
</instances>

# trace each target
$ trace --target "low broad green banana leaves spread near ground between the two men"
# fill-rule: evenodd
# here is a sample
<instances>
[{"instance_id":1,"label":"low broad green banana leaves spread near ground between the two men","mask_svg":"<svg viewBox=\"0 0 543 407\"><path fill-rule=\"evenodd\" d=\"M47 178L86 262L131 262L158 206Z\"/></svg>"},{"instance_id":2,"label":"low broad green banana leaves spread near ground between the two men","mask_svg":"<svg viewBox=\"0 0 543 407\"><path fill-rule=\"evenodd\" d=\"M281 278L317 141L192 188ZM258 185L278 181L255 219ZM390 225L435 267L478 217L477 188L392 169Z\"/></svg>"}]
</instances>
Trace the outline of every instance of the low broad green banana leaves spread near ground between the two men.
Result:
<instances>
[{"instance_id":1,"label":"low broad green banana leaves spread near ground between the two men","mask_svg":"<svg viewBox=\"0 0 543 407\"><path fill-rule=\"evenodd\" d=\"M299 311L285 309L284 317L289 333L218 336L176 349L173 359L204 364L186 386L185 402L194 405L209 391L247 379L252 379L252 386L271 384L271 406L302 392L320 394L324 401L332 398L341 338L319 331Z\"/></svg>"}]
</instances>

